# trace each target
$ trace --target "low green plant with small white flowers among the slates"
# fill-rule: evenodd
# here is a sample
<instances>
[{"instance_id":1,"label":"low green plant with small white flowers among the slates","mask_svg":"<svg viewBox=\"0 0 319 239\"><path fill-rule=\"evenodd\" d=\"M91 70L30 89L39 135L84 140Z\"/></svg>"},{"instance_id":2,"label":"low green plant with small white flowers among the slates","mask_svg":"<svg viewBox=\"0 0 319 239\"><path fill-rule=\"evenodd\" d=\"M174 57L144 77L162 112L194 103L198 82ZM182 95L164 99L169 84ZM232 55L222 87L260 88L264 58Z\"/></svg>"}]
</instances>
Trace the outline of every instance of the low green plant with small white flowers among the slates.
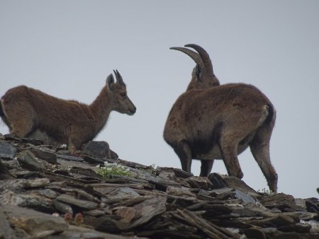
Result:
<instances>
[{"instance_id":1,"label":"low green plant with small white flowers among the slates","mask_svg":"<svg viewBox=\"0 0 319 239\"><path fill-rule=\"evenodd\" d=\"M96 167L98 168L97 174L108 179L113 178L114 175L127 177L133 176L133 174L130 173L129 168L126 168L123 165L119 165L117 163L104 162L103 167L101 167L100 165L97 165Z\"/></svg>"}]
</instances>

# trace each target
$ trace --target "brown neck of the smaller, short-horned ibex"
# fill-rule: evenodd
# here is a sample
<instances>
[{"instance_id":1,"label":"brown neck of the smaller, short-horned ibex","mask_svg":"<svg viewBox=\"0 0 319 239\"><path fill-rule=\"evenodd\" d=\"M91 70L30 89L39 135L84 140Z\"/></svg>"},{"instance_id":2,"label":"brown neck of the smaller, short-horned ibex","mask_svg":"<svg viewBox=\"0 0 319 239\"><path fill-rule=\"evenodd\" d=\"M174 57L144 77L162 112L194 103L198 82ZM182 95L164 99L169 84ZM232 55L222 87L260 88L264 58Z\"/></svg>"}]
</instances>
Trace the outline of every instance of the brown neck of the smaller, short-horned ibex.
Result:
<instances>
[{"instance_id":1,"label":"brown neck of the smaller, short-horned ibex","mask_svg":"<svg viewBox=\"0 0 319 239\"><path fill-rule=\"evenodd\" d=\"M96 123L96 133L99 132L108 120L112 111L112 103L108 95L108 88L104 87L89 108Z\"/></svg>"}]
</instances>

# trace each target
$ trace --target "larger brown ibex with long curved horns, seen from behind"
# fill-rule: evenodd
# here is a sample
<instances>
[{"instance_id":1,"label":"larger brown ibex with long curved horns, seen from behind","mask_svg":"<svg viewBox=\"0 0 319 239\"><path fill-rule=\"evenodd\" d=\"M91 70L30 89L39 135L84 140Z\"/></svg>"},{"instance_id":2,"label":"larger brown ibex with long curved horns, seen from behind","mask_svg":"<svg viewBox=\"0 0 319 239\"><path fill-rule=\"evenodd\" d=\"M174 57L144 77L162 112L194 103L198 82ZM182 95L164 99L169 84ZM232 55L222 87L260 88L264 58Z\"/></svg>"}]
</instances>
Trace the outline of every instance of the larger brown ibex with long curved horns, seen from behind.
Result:
<instances>
[{"instance_id":1,"label":"larger brown ibex with long curved horns, seen from behind","mask_svg":"<svg viewBox=\"0 0 319 239\"><path fill-rule=\"evenodd\" d=\"M201 160L201 176L208 177L214 159L223 158L229 175L242 178L237 155L250 146L270 190L277 190L277 174L270 162L269 141L276 111L257 88L244 83L219 86L207 52L172 47L196 62L191 83L169 112L164 139L179 156L181 168L191 172L192 158Z\"/></svg>"}]
</instances>

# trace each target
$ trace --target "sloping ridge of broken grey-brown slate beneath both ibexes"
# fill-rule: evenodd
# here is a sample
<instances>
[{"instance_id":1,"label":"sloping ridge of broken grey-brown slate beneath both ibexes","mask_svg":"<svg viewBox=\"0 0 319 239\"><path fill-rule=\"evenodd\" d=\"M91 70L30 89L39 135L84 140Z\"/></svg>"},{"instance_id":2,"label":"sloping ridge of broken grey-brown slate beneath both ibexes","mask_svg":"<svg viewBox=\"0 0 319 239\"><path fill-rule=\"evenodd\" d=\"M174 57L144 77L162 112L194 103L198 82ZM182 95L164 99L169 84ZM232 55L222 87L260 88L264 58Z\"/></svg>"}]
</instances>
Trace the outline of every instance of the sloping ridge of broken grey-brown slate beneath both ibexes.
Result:
<instances>
[{"instance_id":1,"label":"sloping ridge of broken grey-brown slate beneath both ibexes","mask_svg":"<svg viewBox=\"0 0 319 239\"><path fill-rule=\"evenodd\" d=\"M130 175L97 174L116 163ZM319 238L319 200L0 134L0 238Z\"/></svg>"}]
</instances>

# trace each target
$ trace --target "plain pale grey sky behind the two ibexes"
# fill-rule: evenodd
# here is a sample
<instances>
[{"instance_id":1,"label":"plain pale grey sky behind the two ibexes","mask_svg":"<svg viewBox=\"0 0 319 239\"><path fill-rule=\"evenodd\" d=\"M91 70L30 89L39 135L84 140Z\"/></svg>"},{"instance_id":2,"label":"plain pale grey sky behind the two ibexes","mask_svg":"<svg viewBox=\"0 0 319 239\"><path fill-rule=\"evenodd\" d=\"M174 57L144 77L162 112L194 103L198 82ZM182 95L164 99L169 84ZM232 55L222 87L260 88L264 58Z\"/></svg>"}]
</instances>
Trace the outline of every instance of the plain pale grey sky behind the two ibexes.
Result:
<instances>
[{"instance_id":1,"label":"plain pale grey sky behind the two ibexes","mask_svg":"<svg viewBox=\"0 0 319 239\"><path fill-rule=\"evenodd\" d=\"M162 132L194 62L169 47L196 43L220 83L250 83L276 107L271 141L279 192L318 197L319 1L0 0L0 95L24 84L91 103L118 69L138 108L112 112L96 140L120 158L180 168ZM2 134L8 129L2 122ZM244 180L268 188L250 150ZM192 172L200 164L193 161ZM226 173L223 161L213 172Z\"/></svg>"}]
</instances>

